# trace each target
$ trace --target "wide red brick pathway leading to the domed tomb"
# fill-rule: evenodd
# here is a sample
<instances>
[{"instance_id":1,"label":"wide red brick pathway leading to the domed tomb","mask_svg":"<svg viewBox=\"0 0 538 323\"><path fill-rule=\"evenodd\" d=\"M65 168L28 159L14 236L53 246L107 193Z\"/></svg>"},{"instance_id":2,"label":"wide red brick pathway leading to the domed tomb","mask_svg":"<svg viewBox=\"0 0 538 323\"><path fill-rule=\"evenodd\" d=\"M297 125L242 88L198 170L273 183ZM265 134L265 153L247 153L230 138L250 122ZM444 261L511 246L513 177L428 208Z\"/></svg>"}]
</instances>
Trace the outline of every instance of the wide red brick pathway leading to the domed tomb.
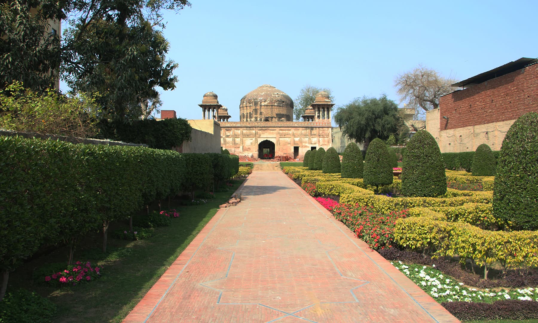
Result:
<instances>
[{"instance_id":1,"label":"wide red brick pathway leading to the domed tomb","mask_svg":"<svg viewBox=\"0 0 538 323\"><path fill-rule=\"evenodd\" d=\"M458 322L274 165L124 322Z\"/></svg>"}]
</instances>

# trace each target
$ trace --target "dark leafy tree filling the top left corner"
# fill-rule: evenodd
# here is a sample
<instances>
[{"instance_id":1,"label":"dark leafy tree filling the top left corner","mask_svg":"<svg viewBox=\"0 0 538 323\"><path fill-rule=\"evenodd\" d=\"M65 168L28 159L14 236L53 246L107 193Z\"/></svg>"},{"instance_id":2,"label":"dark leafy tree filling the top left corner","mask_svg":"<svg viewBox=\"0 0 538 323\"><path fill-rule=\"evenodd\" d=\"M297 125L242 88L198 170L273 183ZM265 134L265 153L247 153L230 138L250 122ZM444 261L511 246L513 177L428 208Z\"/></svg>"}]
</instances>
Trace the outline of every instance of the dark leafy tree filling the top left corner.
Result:
<instances>
[{"instance_id":1,"label":"dark leafy tree filling the top left corner","mask_svg":"<svg viewBox=\"0 0 538 323\"><path fill-rule=\"evenodd\" d=\"M37 91L53 88L60 64L60 38L45 31L48 19L63 17L54 2L0 3L0 88L13 81Z\"/></svg>"}]
</instances>

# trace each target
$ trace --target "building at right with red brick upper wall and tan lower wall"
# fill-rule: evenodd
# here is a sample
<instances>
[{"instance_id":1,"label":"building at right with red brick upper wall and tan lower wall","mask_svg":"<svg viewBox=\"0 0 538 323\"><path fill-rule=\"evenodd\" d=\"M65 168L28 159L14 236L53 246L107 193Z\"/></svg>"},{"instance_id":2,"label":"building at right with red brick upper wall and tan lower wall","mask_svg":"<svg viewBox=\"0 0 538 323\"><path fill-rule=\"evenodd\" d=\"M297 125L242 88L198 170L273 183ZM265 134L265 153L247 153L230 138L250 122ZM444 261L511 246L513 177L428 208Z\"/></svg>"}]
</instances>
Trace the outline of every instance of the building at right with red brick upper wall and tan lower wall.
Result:
<instances>
[{"instance_id":1,"label":"building at right with red brick upper wall and tan lower wall","mask_svg":"<svg viewBox=\"0 0 538 323\"><path fill-rule=\"evenodd\" d=\"M454 83L426 114L426 130L441 152L475 151L480 144L500 150L521 115L538 111L538 59L520 58ZM538 130L537 130L538 131Z\"/></svg>"}]
</instances>

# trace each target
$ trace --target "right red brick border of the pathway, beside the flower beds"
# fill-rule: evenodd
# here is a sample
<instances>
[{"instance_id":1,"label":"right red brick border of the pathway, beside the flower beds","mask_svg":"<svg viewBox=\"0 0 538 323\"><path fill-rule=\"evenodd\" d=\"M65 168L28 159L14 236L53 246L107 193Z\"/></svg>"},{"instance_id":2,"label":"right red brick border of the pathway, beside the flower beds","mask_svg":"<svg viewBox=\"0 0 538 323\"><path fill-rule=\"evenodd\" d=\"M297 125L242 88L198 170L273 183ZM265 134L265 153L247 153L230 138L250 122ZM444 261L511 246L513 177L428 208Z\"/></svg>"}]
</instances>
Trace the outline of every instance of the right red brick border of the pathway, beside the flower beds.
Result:
<instances>
[{"instance_id":1,"label":"right red brick border of the pathway, beside the flower beds","mask_svg":"<svg viewBox=\"0 0 538 323\"><path fill-rule=\"evenodd\" d=\"M289 178L289 177L288 177ZM342 233L344 233L352 242L357 246L358 249L360 249L367 257L372 259L372 262L376 263L376 265L383 271L388 277L390 277L400 288L402 291L407 293L410 298L412 298L417 305L419 305L421 308L423 308L424 311L426 311L432 319L434 319L437 322L459 322L459 320L454 317L454 315L450 314L449 311L447 311L446 308L441 306L441 304L437 303L435 299L433 299L431 296L429 296L426 292L424 292L419 286L417 286L413 280L409 279L407 276L404 275L401 271L396 269L387 259L383 258L377 251L374 251L370 249L369 245L360 240L355 236L355 234L352 233L352 231L346 227L342 222L335 219L335 217L332 215L332 213L329 212L326 208L321 206L320 203L316 201L310 194L305 192L304 189L302 189L295 181L292 179L289 179L295 184L295 186L299 187L301 189L301 193L305 195L310 202L312 202L312 205L316 207L320 212L322 212L325 216L327 216L328 219L334 224Z\"/></svg>"}]
</instances>

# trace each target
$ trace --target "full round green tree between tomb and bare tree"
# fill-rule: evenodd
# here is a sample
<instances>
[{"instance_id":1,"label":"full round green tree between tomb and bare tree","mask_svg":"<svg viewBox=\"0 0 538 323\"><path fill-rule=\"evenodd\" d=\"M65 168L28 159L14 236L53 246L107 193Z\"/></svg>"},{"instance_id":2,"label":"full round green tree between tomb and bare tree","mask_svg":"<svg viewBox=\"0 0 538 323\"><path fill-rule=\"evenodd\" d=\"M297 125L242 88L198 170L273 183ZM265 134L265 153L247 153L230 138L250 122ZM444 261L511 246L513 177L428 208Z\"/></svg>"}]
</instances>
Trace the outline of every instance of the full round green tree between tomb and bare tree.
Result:
<instances>
[{"instance_id":1,"label":"full round green tree between tomb and bare tree","mask_svg":"<svg viewBox=\"0 0 538 323\"><path fill-rule=\"evenodd\" d=\"M367 150L373 139L386 140L397 131L400 116L397 104L386 95L379 99L364 96L338 108L334 120L345 136L364 142Z\"/></svg>"}]
</instances>

